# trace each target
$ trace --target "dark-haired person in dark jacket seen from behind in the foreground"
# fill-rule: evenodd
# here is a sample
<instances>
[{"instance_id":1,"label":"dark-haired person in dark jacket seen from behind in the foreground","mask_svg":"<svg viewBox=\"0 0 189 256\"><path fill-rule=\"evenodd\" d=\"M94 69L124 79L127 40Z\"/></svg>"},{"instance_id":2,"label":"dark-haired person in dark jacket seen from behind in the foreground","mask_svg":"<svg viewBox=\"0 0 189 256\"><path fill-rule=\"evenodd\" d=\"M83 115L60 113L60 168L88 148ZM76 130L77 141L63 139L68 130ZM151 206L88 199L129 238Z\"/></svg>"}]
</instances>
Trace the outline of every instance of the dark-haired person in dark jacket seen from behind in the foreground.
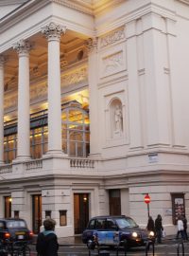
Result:
<instances>
[{"instance_id":1,"label":"dark-haired person in dark jacket seen from behind in the foreground","mask_svg":"<svg viewBox=\"0 0 189 256\"><path fill-rule=\"evenodd\" d=\"M37 238L36 250L38 256L58 256L59 244L55 233L56 222L51 218L43 221L43 232Z\"/></svg>"}]
</instances>

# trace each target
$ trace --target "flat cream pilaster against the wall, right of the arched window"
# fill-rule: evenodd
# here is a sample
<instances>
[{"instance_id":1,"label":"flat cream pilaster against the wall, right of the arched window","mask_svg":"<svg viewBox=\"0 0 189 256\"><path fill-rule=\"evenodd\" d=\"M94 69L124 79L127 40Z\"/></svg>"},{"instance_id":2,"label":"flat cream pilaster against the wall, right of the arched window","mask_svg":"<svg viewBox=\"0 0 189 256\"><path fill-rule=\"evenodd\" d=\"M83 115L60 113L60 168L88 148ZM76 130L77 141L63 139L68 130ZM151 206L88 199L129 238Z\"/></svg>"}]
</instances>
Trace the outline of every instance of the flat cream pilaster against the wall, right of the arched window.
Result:
<instances>
[{"instance_id":1,"label":"flat cream pilaster against the wall, right of the arched window","mask_svg":"<svg viewBox=\"0 0 189 256\"><path fill-rule=\"evenodd\" d=\"M97 39L90 38L86 42L88 48L88 81L89 81L89 95L90 95L90 156L96 157L100 155L98 121L98 105L97 99L97 76L94 70L97 70Z\"/></svg>"}]
</instances>

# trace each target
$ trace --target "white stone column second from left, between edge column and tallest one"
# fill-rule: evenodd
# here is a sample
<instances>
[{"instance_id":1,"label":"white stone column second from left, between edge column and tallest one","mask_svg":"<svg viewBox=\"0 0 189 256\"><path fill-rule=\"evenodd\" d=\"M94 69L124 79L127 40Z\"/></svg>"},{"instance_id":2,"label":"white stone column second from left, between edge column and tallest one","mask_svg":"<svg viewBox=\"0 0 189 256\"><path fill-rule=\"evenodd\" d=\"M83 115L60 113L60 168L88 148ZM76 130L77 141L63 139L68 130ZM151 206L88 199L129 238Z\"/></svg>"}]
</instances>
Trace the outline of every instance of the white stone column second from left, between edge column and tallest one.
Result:
<instances>
[{"instance_id":1,"label":"white stone column second from left, between edge column and tallest one","mask_svg":"<svg viewBox=\"0 0 189 256\"><path fill-rule=\"evenodd\" d=\"M15 46L19 56L18 70L18 160L30 158L30 115L29 115L29 50L28 42L21 40Z\"/></svg>"}]
</instances>

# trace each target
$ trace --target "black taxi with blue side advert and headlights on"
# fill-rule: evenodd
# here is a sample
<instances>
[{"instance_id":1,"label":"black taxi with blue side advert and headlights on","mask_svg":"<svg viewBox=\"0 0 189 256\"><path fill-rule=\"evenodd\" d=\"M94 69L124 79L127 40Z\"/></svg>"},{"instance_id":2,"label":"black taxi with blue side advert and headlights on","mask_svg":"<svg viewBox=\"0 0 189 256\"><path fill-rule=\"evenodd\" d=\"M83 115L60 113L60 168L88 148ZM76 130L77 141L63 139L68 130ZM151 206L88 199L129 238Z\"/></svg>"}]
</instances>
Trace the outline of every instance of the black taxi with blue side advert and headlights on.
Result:
<instances>
[{"instance_id":1,"label":"black taxi with blue side advert and headlights on","mask_svg":"<svg viewBox=\"0 0 189 256\"><path fill-rule=\"evenodd\" d=\"M94 240L100 246L142 247L147 242L154 243L155 234L140 229L132 218L125 215L96 216L82 233L82 242L88 247L94 245Z\"/></svg>"}]
</instances>

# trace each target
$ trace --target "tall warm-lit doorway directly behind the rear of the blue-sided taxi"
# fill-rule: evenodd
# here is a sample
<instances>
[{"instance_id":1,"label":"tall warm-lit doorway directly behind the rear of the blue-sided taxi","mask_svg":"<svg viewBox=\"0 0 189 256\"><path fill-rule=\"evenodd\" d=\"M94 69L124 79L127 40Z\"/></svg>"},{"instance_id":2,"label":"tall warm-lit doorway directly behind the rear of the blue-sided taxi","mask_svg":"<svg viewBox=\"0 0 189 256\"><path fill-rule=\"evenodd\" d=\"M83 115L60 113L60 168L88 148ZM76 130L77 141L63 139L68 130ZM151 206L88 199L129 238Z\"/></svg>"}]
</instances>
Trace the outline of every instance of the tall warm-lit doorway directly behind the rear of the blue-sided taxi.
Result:
<instances>
[{"instance_id":1,"label":"tall warm-lit doorway directly behind the rear of the blue-sided taxi","mask_svg":"<svg viewBox=\"0 0 189 256\"><path fill-rule=\"evenodd\" d=\"M80 234L89 221L89 193L74 194L75 234Z\"/></svg>"}]
</instances>

